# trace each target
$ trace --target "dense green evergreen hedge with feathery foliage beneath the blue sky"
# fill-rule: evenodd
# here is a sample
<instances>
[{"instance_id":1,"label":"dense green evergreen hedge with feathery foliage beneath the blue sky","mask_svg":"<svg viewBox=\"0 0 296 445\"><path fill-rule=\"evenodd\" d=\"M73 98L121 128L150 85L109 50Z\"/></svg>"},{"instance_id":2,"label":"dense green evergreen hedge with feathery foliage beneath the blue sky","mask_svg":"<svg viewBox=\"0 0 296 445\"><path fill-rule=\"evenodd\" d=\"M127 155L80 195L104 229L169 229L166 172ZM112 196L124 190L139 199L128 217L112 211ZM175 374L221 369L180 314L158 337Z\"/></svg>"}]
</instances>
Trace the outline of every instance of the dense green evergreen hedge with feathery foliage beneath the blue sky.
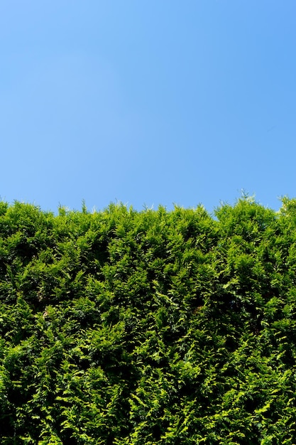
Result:
<instances>
[{"instance_id":1,"label":"dense green evergreen hedge with feathery foliage beneath the blue sky","mask_svg":"<svg viewBox=\"0 0 296 445\"><path fill-rule=\"evenodd\" d=\"M296 201L0 203L0 443L296 443Z\"/></svg>"}]
</instances>

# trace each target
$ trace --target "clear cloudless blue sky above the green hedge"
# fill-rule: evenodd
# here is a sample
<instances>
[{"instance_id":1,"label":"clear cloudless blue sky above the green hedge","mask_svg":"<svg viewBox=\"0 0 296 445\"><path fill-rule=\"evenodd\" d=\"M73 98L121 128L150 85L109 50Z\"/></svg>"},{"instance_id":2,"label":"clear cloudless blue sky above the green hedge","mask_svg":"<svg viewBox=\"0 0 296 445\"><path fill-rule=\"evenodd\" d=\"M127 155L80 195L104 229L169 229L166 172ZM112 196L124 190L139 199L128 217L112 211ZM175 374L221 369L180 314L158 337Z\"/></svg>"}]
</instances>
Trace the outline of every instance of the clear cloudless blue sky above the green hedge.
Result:
<instances>
[{"instance_id":1,"label":"clear cloudless blue sky above the green hedge","mask_svg":"<svg viewBox=\"0 0 296 445\"><path fill-rule=\"evenodd\" d=\"M0 197L296 196L295 0L3 0Z\"/></svg>"}]
</instances>

